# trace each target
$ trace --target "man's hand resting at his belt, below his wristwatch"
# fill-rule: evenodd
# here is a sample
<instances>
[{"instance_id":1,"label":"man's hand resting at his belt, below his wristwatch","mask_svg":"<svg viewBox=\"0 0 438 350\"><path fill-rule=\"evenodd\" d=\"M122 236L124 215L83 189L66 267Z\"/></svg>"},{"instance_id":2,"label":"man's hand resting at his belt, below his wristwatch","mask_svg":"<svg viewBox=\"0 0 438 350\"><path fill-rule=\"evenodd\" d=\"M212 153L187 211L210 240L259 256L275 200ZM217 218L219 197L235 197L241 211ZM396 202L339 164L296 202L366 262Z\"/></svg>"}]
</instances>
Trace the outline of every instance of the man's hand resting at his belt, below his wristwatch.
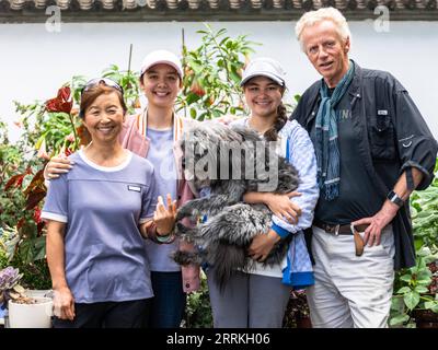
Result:
<instances>
[{"instance_id":1,"label":"man's hand resting at his belt, below his wristwatch","mask_svg":"<svg viewBox=\"0 0 438 350\"><path fill-rule=\"evenodd\" d=\"M396 205L387 200L382 209L380 209L376 213L376 215L370 218L364 218L353 222L355 226L361 224L369 224L369 226L365 230L365 235L364 235L365 245L368 243L368 246L371 247L372 245L380 244L380 237L383 228L387 226L392 221L392 219L394 219L397 210L399 207Z\"/></svg>"}]
</instances>

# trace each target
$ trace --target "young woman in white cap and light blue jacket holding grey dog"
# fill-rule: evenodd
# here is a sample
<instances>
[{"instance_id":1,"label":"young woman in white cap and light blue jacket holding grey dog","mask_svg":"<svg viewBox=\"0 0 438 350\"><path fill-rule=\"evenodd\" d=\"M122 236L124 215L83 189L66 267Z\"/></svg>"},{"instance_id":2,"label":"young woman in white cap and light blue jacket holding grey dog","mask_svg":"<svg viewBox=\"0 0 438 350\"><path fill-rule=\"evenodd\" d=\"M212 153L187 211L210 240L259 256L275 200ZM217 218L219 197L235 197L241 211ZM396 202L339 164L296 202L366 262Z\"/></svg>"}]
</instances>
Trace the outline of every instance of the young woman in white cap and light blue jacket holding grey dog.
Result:
<instances>
[{"instance_id":1,"label":"young woman in white cap and light blue jacket holding grey dog","mask_svg":"<svg viewBox=\"0 0 438 350\"><path fill-rule=\"evenodd\" d=\"M241 85L251 110L247 118L232 125L247 126L266 141L276 141L277 150L299 172L296 192L274 195L247 192L244 201L263 202L273 212L273 225L256 236L249 256L254 268L238 271L223 291L207 271L214 324L217 328L281 327L291 289L313 284L312 265L303 231L311 226L313 209L319 197L316 161L309 135L296 121L289 121L281 98L286 90L285 73L279 62L270 58L254 59L243 72ZM281 265L264 266L270 249L279 240L290 240L287 257Z\"/></svg>"}]
</instances>

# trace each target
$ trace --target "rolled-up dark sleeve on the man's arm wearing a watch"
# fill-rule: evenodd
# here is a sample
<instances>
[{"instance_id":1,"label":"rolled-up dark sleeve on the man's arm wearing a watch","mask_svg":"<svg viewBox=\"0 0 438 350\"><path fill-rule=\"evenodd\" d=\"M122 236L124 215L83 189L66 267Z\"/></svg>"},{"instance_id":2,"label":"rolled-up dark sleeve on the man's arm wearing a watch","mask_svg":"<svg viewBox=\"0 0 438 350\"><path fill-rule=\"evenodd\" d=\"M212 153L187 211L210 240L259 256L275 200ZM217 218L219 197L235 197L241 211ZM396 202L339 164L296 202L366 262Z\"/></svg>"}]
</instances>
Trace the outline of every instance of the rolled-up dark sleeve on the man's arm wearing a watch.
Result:
<instances>
[{"instance_id":1,"label":"rolled-up dark sleeve on the man's arm wearing a watch","mask_svg":"<svg viewBox=\"0 0 438 350\"><path fill-rule=\"evenodd\" d=\"M394 91L395 132L401 160L401 174L416 167L424 177L417 189L425 189L434 179L437 160L437 141L423 119L407 91L399 83Z\"/></svg>"}]
</instances>

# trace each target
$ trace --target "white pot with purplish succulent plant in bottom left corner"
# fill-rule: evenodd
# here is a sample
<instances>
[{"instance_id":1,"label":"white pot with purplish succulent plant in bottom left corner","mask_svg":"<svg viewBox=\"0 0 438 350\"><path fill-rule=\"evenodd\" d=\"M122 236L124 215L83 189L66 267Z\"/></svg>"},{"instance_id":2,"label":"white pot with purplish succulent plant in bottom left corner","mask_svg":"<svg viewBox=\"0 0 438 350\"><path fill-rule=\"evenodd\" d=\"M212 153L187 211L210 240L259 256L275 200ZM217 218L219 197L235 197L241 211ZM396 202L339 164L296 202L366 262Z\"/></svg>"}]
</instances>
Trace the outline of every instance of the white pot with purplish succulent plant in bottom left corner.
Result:
<instances>
[{"instance_id":1,"label":"white pot with purplish succulent plant in bottom left corner","mask_svg":"<svg viewBox=\"0 0 438 350\"><path fill-rule=\"evenodd\" d=\"M51 299L26 295L26 290L20 284L22 277L19 269L13 267L0 271L0 307L8 310L8 315L4 316L9 317L9 327L50 328Z\"/></svg>"}]
</instances>

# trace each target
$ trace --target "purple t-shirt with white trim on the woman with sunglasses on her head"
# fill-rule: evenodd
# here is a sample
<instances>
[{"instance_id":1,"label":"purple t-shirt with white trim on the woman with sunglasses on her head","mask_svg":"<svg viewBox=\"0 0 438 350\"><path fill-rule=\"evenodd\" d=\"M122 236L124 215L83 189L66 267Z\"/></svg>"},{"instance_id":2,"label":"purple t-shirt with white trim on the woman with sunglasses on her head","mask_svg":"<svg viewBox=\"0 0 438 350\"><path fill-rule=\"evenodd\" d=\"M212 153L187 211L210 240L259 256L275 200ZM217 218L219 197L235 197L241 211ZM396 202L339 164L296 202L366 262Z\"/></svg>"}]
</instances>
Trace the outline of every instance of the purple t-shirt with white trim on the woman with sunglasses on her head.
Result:
<instances>
[{"instance_id":1,"label":"purple t-shirt with white trim on the woman with sunglasses on her head","mask_svg":"<svg viewBox=\"0 0 438 350\"><path fill-rule=\"evenodd\" d=\"M67 223L67 283L77 303L153 296L138 224L157 206L153 166L129 152L115 167L70 156L73 168L50 182L42 218Z\"/></svg>"}]
</instances>

